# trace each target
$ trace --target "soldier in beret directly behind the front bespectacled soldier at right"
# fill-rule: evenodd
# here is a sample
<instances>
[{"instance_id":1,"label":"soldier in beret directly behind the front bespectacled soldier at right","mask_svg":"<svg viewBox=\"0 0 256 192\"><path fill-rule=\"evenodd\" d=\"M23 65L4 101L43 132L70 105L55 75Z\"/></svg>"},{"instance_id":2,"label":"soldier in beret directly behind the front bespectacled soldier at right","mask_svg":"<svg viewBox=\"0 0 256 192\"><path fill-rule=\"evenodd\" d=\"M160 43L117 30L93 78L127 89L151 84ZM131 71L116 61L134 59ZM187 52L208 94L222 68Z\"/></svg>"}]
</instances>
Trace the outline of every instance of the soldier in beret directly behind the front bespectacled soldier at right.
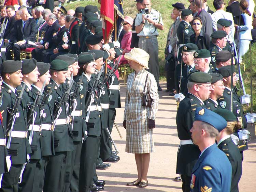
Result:
<instances>
[{"instance_id":1,"label":"soldier in beret directly behind the front bespectacled soldier at right","mask_svg":"<svg viewBox=\"0 0 256 192\"><path fill-rule=\"evenodd\" d=\"M207 109L215 111L219 109L217 99L223 96L223 91L225 89L223 84L223 77L221 74L212 73L212 90L209 99L204 101L204 105Z\"/></svg>"}]
</instances>

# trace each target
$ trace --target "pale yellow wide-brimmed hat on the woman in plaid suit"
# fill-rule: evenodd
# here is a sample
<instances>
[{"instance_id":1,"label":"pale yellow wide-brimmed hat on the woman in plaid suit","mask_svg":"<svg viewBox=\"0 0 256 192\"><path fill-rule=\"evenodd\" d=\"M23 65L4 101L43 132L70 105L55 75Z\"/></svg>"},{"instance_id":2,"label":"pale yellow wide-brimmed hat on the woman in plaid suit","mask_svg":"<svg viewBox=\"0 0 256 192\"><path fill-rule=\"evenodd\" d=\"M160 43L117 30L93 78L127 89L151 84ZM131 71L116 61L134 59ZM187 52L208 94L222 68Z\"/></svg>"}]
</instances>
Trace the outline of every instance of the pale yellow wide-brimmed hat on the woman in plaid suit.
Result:
<instances>
[{"instance_id":1,"label":"pale yellow wide-brimmed hat on the woman in plaid suit","mask_svg":"<svg viewBox=\"0 0 256 192\"><path fill-rule=\"evenodd\" d=\"M149 54L143 49L133 48L129 53L125 53L125 59L132 60L136 63L139 63L146 69L149 69L148 68Z\"/></svg>"}]
</instances>

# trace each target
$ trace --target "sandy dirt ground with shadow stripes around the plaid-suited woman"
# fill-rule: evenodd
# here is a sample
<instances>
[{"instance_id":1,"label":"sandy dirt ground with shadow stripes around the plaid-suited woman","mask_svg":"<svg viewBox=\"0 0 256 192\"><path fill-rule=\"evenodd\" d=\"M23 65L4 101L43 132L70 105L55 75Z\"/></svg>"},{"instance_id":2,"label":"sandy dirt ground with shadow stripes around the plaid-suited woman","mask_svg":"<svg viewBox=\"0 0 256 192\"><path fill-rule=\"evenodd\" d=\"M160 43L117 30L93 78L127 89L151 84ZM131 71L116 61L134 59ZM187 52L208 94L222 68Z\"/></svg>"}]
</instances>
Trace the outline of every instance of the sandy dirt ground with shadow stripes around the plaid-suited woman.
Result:
<instances>
[{"instance_id":1,"label":"sandy dirt ground with shadow stripes around the plaid-suited woman","mask_svg":"<svg viewBox=\"0 0 256 192\"><path fill-rule=\"evenodd\" d=\"M97 170L99 179L106 181L105 192L181 192L182 182L175 182L173 179L178 176L176 171L176 155L179 147L179 138L176 130L176 101L166 93L165 83L159 92L159 107L154 129L155 153L151 153L150 167L148 170L148 187L137 188L126 186L127 182L137 179L137 169L133 154L125 152L126 131L122 126L124 114L124 101L126 87L121 80L121 104L122 108L117 109L115 122L120 130L123 139L120 139L116 128L113 128L112 137L115 141L120 160L118 163L111 163L111 167L105 170ZM255 192L256 182L256 137L254 126L248 126L252 139L248 143L249 149L244 151L243 175L239 182L240 192Z\"/></svg>"}]
</instances>

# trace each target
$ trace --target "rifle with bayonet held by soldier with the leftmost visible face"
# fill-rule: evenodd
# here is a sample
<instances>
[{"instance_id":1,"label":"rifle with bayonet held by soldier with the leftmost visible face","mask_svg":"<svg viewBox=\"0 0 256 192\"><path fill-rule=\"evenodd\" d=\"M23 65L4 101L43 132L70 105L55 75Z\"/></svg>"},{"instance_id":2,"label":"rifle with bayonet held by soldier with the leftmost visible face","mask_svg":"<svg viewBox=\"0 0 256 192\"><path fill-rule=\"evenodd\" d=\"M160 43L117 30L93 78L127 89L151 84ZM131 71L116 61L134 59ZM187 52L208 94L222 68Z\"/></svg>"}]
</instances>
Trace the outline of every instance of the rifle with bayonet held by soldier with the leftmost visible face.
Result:
<instances>
[{"instance_id":1,"label":"rifle with bayonet held by soldier with the leftmost visible face","mask_svg":"<svg viewBox=\"0 0 256 192\"><path fill-rule=\"evenodd\" d=\"M22 90L20 91L20 94L16 97L15 101L14 101L14 105L13 108L8 108L10 109L9 111L9 116L8 116L8 121L7 121L7 125L6 125L6 137L8 136L9 131L12 129L15 119L16 119L16 115L15 112L18 111L18 106L20 104L20 100L22 99L22 95L24 93L25 90L25 84L22 87ZM10 134L11 136L11 134Z\"/></svg>"}]
</instances>

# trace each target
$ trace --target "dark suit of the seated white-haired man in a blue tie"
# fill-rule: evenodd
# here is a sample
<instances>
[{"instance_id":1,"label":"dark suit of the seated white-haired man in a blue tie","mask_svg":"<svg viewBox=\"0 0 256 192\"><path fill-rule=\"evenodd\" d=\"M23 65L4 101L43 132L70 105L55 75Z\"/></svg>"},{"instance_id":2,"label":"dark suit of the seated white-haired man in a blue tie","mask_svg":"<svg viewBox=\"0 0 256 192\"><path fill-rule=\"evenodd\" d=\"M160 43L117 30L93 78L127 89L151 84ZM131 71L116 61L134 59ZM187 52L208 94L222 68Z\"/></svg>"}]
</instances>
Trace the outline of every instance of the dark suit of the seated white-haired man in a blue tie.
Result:
<instances>
[{"instance_id":1,"label":"dark suit of the seated white-haired man in a blue tie","mask_svg":"<svg viewBox=\"0 0 256 192\"><path fill-rule=\"evenodd\" d=\"M10 49L13 49L15 60L20 60L21 49L32 47L31 45L28 44L28 41L35 42L36 34L37 34L37 27L34 19L29 18L26 21L24 28L23 28L22 19L17 20L14 23L13 33L10 35L10 44L7 44L8 46L6 45L6 48L8 51L10 51ZM26 41L25 44L23 45L15 44L18 41L23 41L23 40Z\"/></svg>"}]
</instances>

